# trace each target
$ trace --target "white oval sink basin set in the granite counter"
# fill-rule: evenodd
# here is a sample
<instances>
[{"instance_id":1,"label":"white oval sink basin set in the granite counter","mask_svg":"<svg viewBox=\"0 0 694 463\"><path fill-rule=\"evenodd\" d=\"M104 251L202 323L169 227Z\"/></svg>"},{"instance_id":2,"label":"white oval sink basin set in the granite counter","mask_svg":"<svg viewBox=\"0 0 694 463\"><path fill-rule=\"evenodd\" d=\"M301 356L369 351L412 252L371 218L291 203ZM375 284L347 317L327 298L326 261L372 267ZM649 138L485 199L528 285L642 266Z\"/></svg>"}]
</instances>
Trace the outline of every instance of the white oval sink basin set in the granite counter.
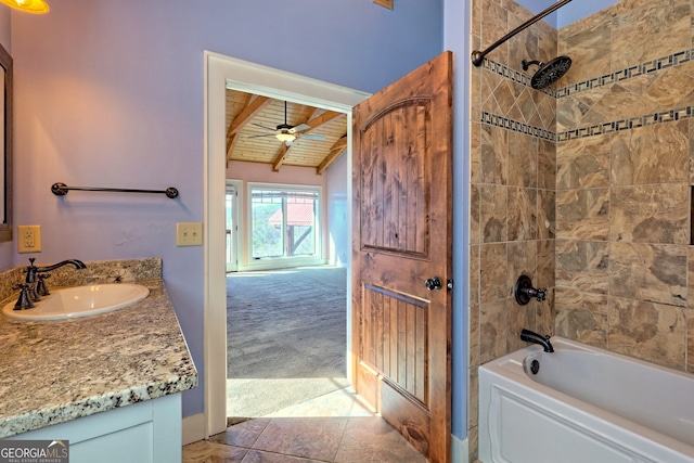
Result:
<instances>
[{"instance_id":1,"label":"white oval sink basin set in the granite counter","mask_svg":"<svg viewBox=\"0 0 694 463\"><path fill-rule=\"evenodd\" d=\"M139 284L114 283L55 290L41 296L33 309L13 310L15 301L4 306L2 313L14 320L64 320L95 316L132 306L150 295Z\"/></svg>"}]
</instances>

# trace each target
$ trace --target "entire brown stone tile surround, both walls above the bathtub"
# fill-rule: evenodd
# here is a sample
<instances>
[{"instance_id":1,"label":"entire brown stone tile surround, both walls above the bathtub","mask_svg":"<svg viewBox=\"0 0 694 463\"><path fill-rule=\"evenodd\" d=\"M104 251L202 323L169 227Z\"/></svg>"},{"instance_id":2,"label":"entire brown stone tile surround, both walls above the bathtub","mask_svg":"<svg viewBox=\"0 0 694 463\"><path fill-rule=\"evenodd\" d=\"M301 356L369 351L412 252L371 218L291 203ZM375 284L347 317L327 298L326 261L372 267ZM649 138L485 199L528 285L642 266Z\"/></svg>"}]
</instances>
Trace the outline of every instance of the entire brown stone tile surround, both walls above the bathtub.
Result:
<instances>
[{"instance_id":1,"label":"entire brown stone tile surround, both walls above the bathtub","mask_svg":"<svg viewBox=\"0 0 694 463\"><path fill-rule=\"evenodd\" d=\"M470 461L477 368L522 327L694 372L692 11L622 0L560 31L539 22L472 70ZM531 14L474 0L472 17L480 50ZM522 60L557 54L570 70L531 89ZM547 301L515 303L520 273Z\"/></svg>"}]
</instances>

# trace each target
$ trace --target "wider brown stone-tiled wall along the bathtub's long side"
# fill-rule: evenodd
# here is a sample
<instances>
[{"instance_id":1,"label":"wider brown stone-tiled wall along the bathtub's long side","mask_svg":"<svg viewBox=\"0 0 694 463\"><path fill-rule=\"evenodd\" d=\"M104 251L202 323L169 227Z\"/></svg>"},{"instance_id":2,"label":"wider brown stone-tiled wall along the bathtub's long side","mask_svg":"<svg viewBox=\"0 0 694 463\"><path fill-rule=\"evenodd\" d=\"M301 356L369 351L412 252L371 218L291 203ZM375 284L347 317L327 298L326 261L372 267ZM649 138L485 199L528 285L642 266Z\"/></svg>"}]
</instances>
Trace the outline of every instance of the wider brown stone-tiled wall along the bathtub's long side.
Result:
<instances>
[{"instance_id":1,"label":"wider brown stone-tiled wall along the bathtub's long side","mask_svg":"<svg viewBox=\"0 0 694 463\"><path fill-rule=\"evenodd\" d=\"M692 372L693 5L624 0L558 33L555 292L555 334Z\"/></svg>"}]
</instances>

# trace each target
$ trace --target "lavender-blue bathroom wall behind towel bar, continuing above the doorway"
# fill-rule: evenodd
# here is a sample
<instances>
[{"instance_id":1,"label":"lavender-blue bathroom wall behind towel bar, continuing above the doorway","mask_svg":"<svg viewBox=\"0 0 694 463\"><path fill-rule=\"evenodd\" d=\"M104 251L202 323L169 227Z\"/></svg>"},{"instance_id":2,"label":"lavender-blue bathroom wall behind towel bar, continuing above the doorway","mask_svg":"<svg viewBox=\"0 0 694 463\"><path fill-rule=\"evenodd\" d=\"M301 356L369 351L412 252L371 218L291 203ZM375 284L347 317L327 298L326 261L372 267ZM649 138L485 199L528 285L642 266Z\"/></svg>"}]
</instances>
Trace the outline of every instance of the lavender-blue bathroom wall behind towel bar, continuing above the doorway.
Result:
<instances>
[{"instance_id":1,"label":"lavender-blue bathroom wall behind towel bar, continuing above the doorway","mask_svg":"<svg viewBox=\"0 0 694 463\"><path fill-rule=\"evenodd\" d=\"M203 51L375 92L442 51L442 5L56 0L47 15L13 12L15 222L41 224L38 263L162 257L202 374L203 249L176 247L175 223L203 220ZM181 196L60 198L57 181ZM12 265L29 257L14 245L0 257L8 248ZM184 395L185 416L203 411L203 387Z\"/></svg>"}]
</instances>

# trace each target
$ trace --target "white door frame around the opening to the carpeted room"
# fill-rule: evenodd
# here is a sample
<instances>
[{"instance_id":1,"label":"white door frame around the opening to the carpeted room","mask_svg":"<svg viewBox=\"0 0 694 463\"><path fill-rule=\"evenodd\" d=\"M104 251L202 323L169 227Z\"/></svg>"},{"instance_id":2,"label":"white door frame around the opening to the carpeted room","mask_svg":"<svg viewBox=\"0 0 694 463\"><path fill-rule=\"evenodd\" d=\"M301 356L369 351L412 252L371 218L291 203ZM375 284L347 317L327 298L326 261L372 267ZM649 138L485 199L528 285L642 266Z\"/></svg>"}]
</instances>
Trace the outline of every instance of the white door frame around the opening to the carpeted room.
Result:
<instances>
[{"instance_id":1,"label":"white door frame around the opening to the carpeted room","mask_svg":"<svg viewBox=\"0 0 694 463\"><path fill-rule=\"evenodd\" d=\"M204 52L204 437L227 429L226 214L228 88L347 114L347 195L351 197L351 108L370 93ZM351 230L351 202L348 202ZM350 241L351 245L351 241ZM351 269L351 253L347 267ZM351 378L351 276L347 275L347 377Z\"/></svg>"}]
</instances>

